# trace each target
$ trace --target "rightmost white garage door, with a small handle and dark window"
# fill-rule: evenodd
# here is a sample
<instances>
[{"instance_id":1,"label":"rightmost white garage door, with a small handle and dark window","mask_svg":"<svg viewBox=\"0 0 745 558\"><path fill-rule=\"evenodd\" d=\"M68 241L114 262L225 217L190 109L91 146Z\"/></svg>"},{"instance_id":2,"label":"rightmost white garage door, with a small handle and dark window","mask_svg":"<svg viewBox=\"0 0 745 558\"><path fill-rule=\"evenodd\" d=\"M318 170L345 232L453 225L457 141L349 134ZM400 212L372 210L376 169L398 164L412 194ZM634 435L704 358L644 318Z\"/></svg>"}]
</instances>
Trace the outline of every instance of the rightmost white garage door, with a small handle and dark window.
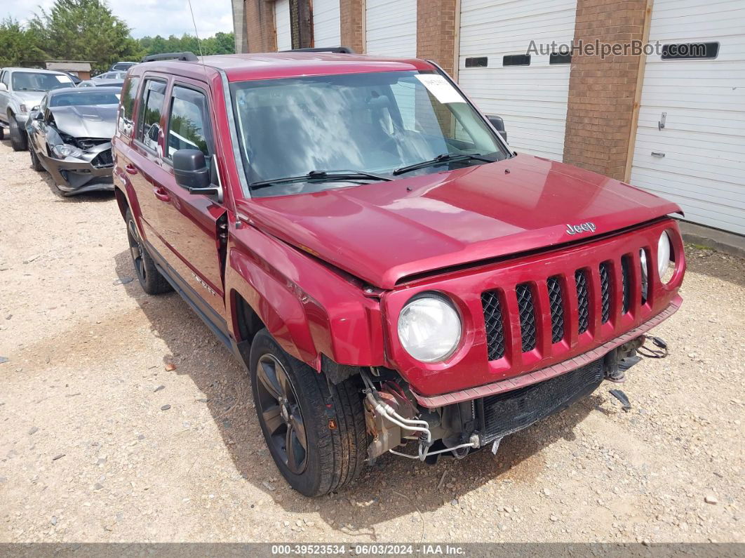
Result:
<instances>
[{"instance_id":1,"label":"rightmost white garage door, with a small handle and dark window","mask_svg":"<svg viewBox=\"0 0 745 558\"><path fill-rule=\"evenodd\" d=\"M688 221L745 235L745 2L655 0L656 41L715 42L718 52L647 57L631 183L675 201Z\"/></svg>"}]
</instances>

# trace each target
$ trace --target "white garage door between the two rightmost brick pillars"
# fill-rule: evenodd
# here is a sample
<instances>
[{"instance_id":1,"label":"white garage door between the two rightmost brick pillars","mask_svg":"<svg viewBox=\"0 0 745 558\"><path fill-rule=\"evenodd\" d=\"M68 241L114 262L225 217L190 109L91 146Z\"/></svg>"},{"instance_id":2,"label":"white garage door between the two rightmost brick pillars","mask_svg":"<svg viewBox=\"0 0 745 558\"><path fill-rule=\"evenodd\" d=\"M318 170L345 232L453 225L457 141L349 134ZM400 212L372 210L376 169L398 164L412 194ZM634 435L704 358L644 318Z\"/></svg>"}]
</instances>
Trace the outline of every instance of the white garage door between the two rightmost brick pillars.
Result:
<instances>
[{"instance_id":1,"label":"white garage door between the two rightmost brick pillars","mask_svg":"<svg viewBox=\"0 0 745 558\"><path fill-rule=\"evenodd\" d=\"M548 54L510 64L526 62L512 56L525 54L531 40L571 42L576 10L576 0L461 0L458 81L481 110L504 118L518 152L562 160L571 64L549 63Z\"/></svg>"}]
</instances>

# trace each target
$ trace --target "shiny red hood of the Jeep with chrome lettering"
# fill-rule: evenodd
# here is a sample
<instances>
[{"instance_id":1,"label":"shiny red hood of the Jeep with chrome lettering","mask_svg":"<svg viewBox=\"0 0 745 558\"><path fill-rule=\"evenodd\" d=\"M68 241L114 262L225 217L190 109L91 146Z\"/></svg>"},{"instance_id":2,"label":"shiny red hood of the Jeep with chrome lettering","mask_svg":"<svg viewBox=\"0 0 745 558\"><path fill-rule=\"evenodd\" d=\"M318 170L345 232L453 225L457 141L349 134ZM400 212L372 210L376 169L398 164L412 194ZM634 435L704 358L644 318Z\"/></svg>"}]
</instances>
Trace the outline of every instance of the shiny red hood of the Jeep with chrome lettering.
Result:
<instances>
[{"instance_id":1,"label":"shiny red hood of the Jeep with chrome lettering","mask_svg":"<svg viewBox=\"0 0 745 558\"><path fill-rule=\"evenodd\" d=\"M509 171L509 172L508 172ZM680 212L571 165L519 155L456 171L241 203L260 229L380 288ZM567 225L592 221L594 232Z\"/></svg>"}]
</instances>

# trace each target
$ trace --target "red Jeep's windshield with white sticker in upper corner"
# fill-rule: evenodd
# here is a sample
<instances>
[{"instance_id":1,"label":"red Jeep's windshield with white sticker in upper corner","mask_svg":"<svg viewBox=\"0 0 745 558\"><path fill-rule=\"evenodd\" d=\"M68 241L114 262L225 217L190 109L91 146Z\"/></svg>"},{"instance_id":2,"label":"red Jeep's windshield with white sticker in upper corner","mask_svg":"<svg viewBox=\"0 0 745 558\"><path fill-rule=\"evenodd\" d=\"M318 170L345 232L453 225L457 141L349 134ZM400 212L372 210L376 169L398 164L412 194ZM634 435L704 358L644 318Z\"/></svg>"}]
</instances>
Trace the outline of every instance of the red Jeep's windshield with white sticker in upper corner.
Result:
<instances>
[{"instance_id":1,"label":"red Jeep's windshield with white sticker in upper corner","mask_svg":"<svg viewBox=\"0 0 745 558\"><path fill-rule=\"evenodd\" d=\"M481 115L435 72L253 80L232 83L231 91L249 184L342 170L399 178L396 169L437 157L441 162L404 176L509 156ZM442 159L469 154L481 159ZM349 182L294 181L252 195L342 186Z\"/></svg>"}]
</instances>

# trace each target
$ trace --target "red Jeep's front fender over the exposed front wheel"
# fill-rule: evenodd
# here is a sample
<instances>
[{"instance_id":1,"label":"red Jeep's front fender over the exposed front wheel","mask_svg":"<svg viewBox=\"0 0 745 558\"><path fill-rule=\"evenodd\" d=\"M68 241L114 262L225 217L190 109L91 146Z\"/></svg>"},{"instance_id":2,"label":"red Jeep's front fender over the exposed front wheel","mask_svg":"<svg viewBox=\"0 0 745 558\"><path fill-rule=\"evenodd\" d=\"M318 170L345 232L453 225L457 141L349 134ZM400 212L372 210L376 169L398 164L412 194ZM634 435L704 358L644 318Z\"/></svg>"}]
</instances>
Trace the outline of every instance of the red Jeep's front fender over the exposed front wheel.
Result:
<instances>
[{"instance_id":1,"label":"red Jeep's front fender over the exposed front wheel","mask_svg":"<svg viewBox=\"0 0 745 558\"><path fill-rule=\"evenodd\" d=\"M365 297L353 279L259 229L232 229L225 285L229 301L240 294L277 343L316 370L322 354L338 364L384 364L378 299ZM235 303L227 307L232 334L241 340Z\"/></svg>"}]
</instances>

